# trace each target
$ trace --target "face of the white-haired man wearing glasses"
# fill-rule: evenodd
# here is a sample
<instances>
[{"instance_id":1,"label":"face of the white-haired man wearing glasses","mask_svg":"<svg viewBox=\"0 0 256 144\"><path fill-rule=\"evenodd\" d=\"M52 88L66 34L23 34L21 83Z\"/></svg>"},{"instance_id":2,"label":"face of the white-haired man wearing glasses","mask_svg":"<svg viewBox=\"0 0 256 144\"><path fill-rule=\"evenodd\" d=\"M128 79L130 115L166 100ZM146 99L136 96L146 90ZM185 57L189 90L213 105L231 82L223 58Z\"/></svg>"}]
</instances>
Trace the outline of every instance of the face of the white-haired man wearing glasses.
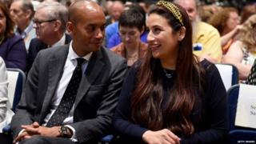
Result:
<instances>
[{"instance_id":1,"label":"face of the white-haired man wearing glasses","mask_svg":"<svg viewBox=\"0 0 256 144\"><path fill-rule=\"evenodd\" d=\"M47 10L42 8L35 12L33 21L37 38L48 44L50 38L54 35L54 22L56 22L56 19L49 18Z\"/></svg>"}]
</instances>

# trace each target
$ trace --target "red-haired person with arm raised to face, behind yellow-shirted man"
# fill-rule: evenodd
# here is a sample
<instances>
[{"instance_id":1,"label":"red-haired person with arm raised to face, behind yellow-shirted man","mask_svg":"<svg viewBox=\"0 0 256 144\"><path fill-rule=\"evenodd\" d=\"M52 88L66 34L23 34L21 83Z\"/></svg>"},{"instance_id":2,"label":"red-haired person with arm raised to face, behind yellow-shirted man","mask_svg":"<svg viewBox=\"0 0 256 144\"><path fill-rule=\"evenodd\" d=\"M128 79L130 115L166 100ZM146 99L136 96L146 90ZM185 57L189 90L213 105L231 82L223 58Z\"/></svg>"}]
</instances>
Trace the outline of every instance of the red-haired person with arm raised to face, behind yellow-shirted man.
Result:
<instances>
[{"instance_id":1,"label":"red-haired person with arm raised to face, behind yellow-shirted man","mask_svg":"<svg viewBox=\"0 0 256 144\"><path fill-rule=\"evenodd\" d=\"M238 10L234 7L224 7L216 14L213 14L208 23L214 26L219 34L221 34L222 52L226 54L226 51L236 40L236 36L242 27L239 25Z\"/></svg>"}]
</instances>

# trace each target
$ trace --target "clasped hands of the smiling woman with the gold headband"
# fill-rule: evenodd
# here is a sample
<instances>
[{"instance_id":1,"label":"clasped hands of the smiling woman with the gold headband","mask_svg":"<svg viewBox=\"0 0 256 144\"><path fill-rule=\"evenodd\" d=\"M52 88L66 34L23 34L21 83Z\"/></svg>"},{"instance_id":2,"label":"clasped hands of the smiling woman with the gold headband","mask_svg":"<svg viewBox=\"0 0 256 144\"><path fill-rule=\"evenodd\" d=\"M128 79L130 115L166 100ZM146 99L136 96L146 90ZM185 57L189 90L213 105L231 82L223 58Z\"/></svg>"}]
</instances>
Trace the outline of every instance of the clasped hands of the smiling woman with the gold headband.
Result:
<instances>
[{"instance_id":1,"label":"clasped hands of the smiling woman with the gold headband","mask_svg":"<svg viewBox=\"0 0 256 144\"><path fill-rule=\"evenodd\" d=\"M179 144L180 138L170 130L147 130L142 135L143 141L149 144Z\"/></svg>"}]
</instances>

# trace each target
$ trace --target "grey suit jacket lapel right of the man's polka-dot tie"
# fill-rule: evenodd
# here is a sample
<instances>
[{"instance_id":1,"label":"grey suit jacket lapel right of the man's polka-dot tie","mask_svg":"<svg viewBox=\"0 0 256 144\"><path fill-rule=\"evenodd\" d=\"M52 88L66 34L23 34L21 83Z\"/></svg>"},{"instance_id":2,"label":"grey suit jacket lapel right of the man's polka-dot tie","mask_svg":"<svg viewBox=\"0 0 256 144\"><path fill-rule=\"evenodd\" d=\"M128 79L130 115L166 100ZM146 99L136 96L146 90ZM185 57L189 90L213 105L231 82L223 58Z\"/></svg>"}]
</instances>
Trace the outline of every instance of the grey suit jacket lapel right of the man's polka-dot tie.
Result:
<instances>
[{"instance_id":1,"label":"grey suit jacket lapel right of the man's polka-dot tie","mask_svg":"<svg viewBox=\"0 0 256 144\"><path fill-rule=\"evenodd\" d=\"M78 88L78 94L74 102L74 110L78 106L78 103L81 101L81 99L90 89L91 84L94 82L95 78L97 78L103 66L104 62L102 60L102 50L99 50L98 52L92 54L86 68L86 74L83 74L82 76L82 82L80 83L80 86Z\"/></svg>"}]
</instances>

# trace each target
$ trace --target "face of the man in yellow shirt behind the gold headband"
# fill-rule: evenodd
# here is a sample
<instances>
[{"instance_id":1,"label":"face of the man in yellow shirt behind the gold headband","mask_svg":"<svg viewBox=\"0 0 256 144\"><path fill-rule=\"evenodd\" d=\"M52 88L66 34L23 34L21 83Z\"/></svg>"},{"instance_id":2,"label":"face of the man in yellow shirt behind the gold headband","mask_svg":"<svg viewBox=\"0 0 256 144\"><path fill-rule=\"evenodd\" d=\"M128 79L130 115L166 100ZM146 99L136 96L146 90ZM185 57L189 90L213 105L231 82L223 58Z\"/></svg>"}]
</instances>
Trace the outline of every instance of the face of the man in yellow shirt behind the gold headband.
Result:
<instances>
[{"instance_id":1,"label":"face of the man in yellow shirt behind the gold headband","mask_svg":"<svg viewBox=\"0 0 256 144\"><path fill-rule=\"evenodd\" d=\"M186 10L186 13L190 17L190 21L194 22L198 14L195 0L178 0L176 2Z\"/></svg>"}]
</instances>

